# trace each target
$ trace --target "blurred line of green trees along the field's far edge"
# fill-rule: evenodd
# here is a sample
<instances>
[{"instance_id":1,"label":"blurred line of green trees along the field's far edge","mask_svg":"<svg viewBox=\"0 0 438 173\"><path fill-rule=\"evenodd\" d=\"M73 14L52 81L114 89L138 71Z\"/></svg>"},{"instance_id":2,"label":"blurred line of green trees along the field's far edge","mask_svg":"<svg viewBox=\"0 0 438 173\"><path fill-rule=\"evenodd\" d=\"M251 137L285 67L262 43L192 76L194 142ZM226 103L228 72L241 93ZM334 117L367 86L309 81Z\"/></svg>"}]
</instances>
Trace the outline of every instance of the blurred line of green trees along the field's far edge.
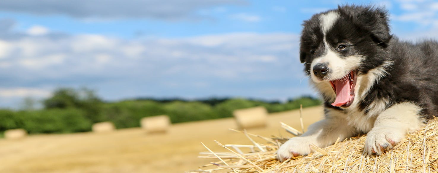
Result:
<instances>
[{"instance_id":1,"label":"blurred line of green trees along the field's far edge","mask_svg":"<svg viewBox=\"0 0 438 173\"><path fill-rule=\"evenodd\" d=\"M264 106L279 112L319 105L312 97L288 102L267 102L242 98L132 99L104 102L87 88L59 88L42 101L43 109L0 109L0 132L23 128L30 134L90 131L93 123L111 121L117 128L139 127L143 117L166 114L172 123L232 117L235 109ZM3 133L2 133L3 134Z\"/></svg>"}]
</instances>

